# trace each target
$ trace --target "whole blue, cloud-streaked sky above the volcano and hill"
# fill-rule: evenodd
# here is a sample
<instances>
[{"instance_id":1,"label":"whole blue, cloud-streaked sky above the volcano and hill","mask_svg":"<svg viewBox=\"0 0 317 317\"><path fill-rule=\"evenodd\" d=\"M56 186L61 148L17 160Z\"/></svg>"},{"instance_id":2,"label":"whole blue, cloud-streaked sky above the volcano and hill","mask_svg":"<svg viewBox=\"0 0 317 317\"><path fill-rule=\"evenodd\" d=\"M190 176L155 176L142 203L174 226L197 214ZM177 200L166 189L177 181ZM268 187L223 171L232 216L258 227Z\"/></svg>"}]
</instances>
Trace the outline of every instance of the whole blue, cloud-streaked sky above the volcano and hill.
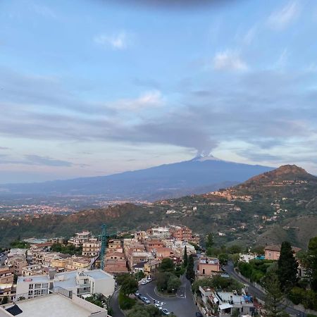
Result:
<instances>
[{"instance_id":1,"label":"whole blue, cloud-streaked sky above the volcano and hill","mask_svg":"<svg viewBox=\"0 0 317 317\"><path fill-rule=\"evenodd\" d=\"M317 174L317 3L1 0L0 183L213 154Z\"/></svg>"}]
</instances>

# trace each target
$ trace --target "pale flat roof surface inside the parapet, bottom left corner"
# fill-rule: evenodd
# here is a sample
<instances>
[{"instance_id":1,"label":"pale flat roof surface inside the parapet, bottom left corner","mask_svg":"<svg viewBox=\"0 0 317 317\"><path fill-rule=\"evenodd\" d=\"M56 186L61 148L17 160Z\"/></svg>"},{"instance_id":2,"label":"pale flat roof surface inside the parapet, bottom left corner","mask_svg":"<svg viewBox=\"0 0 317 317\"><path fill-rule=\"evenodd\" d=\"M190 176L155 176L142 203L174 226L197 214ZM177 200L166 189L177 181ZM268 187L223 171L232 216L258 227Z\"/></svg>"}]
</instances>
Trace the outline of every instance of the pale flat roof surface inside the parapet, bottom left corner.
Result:
<instances>
[{"instance_id":1,"label":"pale flat roof surface inside the parapet, bottom left corner","mask_svg":"<svg viewBox=\"0 0 317 317\"><path fill-rule=\"evenodd\" d=\"M27 299L17 302L17 306L22 311L22 313L18 314L19 317L87 317L92 313L61 294L50 294ZM6 309L8 308L9 306L6 305ZM101 308L99 309L101 310ZM97 311L99 310L96 309Z\"/></svg>"}]
</instances>

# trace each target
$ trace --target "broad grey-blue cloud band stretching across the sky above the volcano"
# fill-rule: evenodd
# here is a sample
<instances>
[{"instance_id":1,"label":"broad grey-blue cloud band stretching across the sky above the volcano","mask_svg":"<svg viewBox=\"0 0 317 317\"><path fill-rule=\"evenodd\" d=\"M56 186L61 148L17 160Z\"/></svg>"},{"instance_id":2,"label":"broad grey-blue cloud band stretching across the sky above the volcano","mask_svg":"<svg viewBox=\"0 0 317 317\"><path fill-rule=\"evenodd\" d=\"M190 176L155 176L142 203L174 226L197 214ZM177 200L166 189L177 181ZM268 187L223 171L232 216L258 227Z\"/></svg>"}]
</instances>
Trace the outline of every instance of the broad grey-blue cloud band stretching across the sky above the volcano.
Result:
<instances>
[{"instance_id":1,"label":"broad grey-blue cloud band stretching across the sky above the volcano","mask_svg":"<svg viewBox=\"0 0 317 317\"><path fill-rule=\"evenodd\" d=\"M0 82L2 75L0 72ZM150 90L137 98L105 104L70 97L61 84L44 85L42 77L11 73L6 87L15 89L0 96L0 135L47 142L165 144L204 153L221 144L241 142L256 146L261 153L282 149L274 154L279 156L292 147L303 156L312 149L317 151L316 73L250 70L238 76L224 72L216 80L209 73L206 76L210 76L206 83L178 87L172 97ZM47 110L54 104L54 111ZM294 139L305 145L296 145ZM311 139L309 144L304 143L307 139ZM19 161L71 164L37 156Z\"/></svg>"}]
</instances>

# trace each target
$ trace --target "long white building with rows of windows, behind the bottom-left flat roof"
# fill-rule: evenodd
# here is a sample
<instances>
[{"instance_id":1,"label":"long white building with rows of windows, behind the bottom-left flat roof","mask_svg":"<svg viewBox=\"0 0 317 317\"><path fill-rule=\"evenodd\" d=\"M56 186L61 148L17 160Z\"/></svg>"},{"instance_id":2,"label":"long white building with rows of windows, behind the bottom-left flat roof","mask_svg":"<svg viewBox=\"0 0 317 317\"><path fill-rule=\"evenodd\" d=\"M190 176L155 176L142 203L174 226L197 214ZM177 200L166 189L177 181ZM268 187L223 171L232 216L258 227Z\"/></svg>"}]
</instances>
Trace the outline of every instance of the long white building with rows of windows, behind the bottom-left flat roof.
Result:
<instances>
[{"instance_id":1,"label":"long white building with rows of windows, behind the bottom-left flat roof","mask_svg":"<svg viewBox=\"0 0 317 317\"><path fill-rule=\"evenodd\" d=\"M54 289L68 290L75 295L101 293L108 297L114 292L115 280L111 274L101 270L57 273L51 278L49 275L20 277L16 286L16 298L38 297Z\"/></svg>"}]
</instances>

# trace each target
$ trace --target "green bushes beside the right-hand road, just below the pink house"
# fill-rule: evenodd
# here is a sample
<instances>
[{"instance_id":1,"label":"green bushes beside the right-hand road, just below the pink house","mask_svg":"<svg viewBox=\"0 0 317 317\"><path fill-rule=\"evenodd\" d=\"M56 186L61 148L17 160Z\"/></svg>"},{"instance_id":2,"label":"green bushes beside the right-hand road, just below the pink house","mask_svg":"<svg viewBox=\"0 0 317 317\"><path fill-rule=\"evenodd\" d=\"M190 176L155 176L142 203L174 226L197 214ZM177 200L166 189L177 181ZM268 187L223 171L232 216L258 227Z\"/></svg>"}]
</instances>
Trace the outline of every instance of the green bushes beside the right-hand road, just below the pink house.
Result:
<instances>
[{"instance_id":1,"label":"green bushes beside the right-hand road, just below the pink house","mask_svg":"<svg viewBox=\"0 0 317 317\"><path fill-rule=\"evenodd\" d=\"M249 263L239 262L237 267L240 273L251 280L251 282L258 282L261 284L262 278L269 271L273 265L271 260L251 260Z\"/></svg>"}]
</instances>

